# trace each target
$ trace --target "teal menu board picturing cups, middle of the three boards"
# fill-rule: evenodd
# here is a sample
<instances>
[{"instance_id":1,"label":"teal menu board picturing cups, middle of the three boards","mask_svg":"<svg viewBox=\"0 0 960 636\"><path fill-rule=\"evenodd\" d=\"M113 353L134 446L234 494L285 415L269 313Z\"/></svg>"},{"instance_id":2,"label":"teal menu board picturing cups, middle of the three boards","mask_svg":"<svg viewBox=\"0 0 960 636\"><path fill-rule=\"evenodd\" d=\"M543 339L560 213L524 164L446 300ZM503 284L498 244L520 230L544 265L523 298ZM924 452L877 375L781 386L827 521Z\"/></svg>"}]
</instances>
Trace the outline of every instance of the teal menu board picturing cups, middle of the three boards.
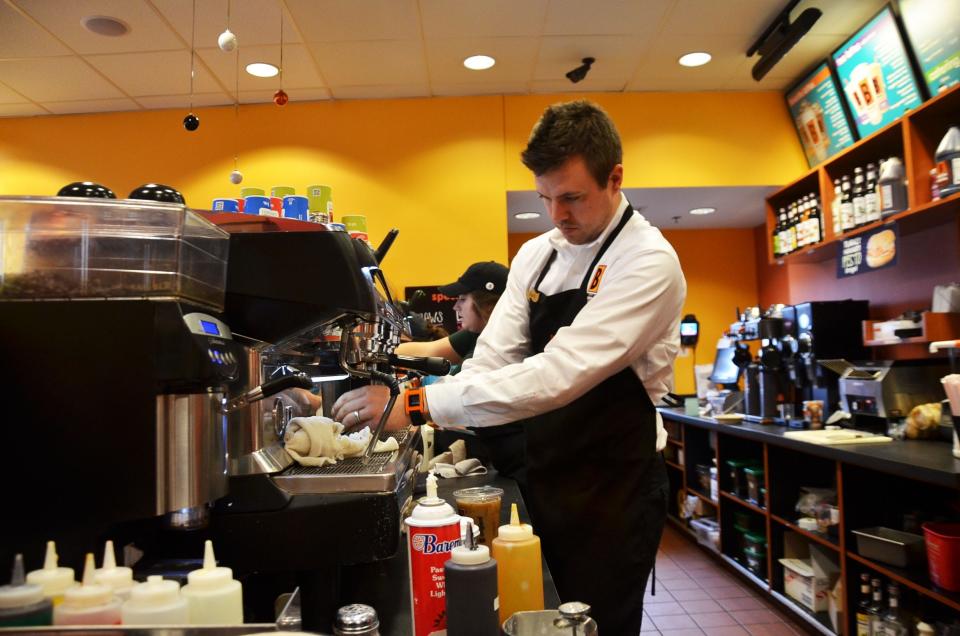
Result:
<instances>
[{"instance_id":1,"label":"teal menu board picturing cups, middle of the three boards","mask_svg":"<svg viewBox=\"0 0 960 636\"><path fill-rule=\"evenodd\" d=\"M833 62L861 137L923 102L889 6L834 51Z\"/></svg>"}]
</instances>

